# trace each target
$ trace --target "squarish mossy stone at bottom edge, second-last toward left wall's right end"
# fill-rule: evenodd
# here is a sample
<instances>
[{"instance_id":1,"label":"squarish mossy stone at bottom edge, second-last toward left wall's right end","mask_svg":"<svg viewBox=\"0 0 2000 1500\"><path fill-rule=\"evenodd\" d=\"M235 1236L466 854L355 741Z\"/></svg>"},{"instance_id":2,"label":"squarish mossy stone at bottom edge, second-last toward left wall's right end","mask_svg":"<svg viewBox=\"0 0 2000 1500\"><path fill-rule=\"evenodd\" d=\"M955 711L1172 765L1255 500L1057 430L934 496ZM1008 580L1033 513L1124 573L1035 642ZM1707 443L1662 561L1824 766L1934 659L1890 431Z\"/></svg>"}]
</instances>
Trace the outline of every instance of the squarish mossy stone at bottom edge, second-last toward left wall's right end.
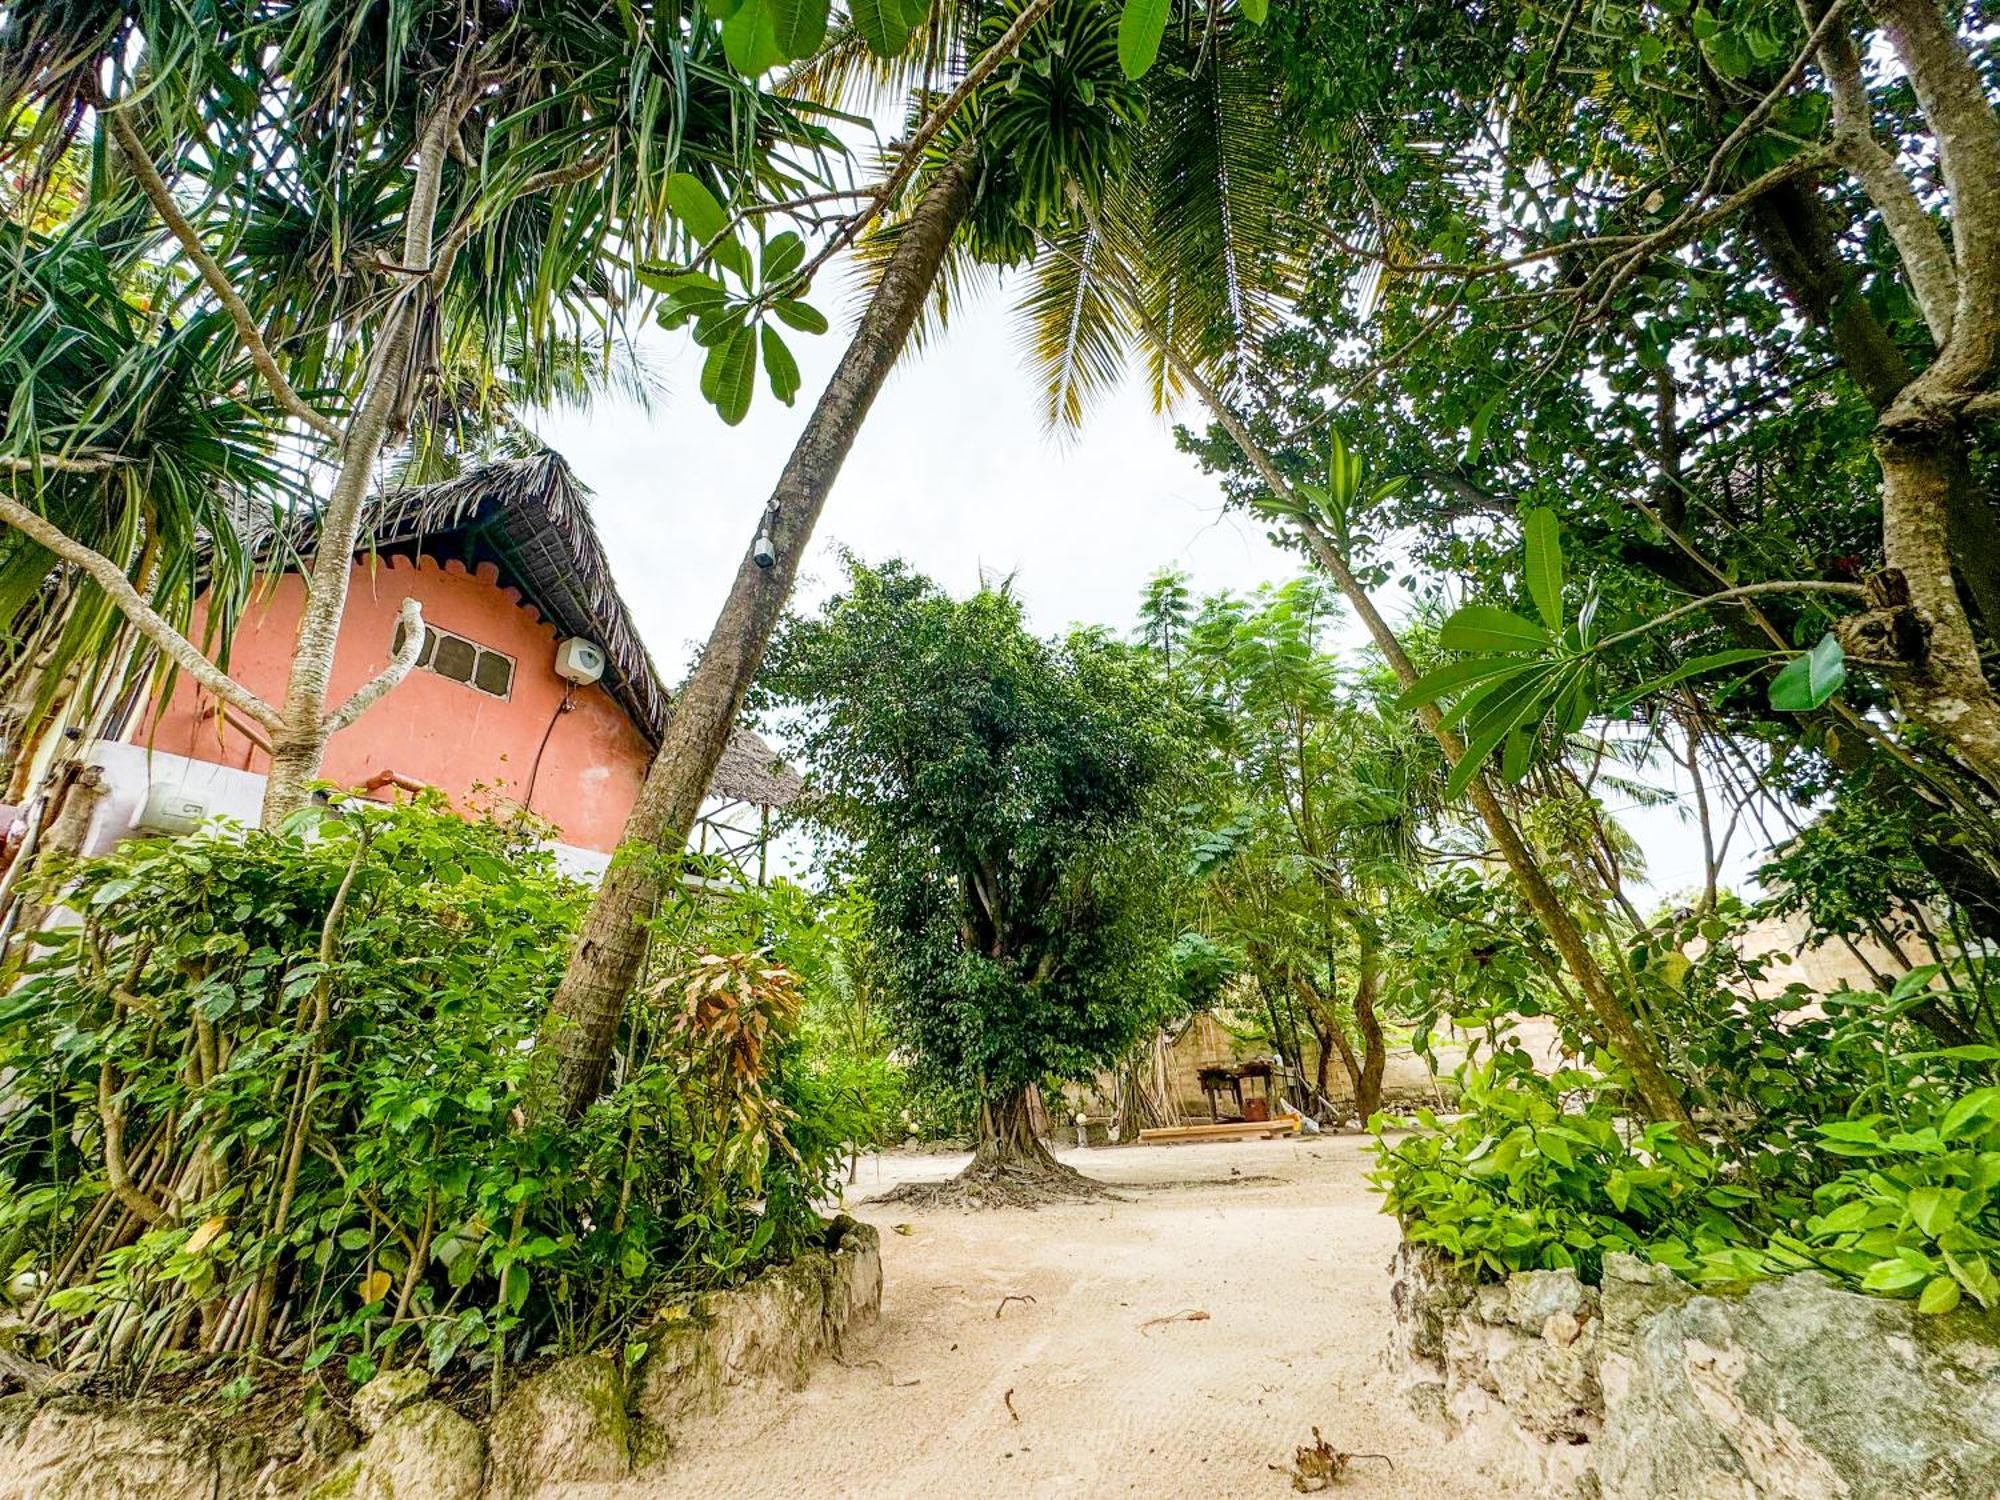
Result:
<instances>
[{"instance_id":1,"label":"squarish mossy stone at bottom edge, second-last toward left wall's right end","mask_svg":"<svg viewBox=\"0 0 2000 1500\"><path fill-rule=\"evenodd\" d=\"M486 1440L494 1500L524 1500L544 1484L624 1478L632 1424L618 1366L578 1354L538 1370L500 1402Z\"/></svg>"}]
</instances>

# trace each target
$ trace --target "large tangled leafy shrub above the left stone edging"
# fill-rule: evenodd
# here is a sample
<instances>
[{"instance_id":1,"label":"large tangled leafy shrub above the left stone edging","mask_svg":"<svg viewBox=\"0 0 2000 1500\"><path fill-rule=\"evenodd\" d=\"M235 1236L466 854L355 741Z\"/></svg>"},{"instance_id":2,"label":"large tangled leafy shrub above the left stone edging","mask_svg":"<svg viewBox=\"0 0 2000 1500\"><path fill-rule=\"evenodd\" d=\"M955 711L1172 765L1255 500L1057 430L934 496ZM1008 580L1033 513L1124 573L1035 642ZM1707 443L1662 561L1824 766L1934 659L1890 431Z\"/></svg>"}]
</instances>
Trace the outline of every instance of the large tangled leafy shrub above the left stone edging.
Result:
<instances>
[{"instance_id":1,"label":"large tangled leafy shrub above the left stone edging","mask_svg":"<svg viewBox=\"0 0 2000 1500\"><path fill-rule=\"evenodd\" d=\"M0 1004L0 1254L50 1358L518 1358L816 1232L838 1142L798 992L708 952L726 904L656 942L616 1088L550 1120L582 892L442 802L336 812L82 864L82 922Z\"/></svg>"}]
</instances>

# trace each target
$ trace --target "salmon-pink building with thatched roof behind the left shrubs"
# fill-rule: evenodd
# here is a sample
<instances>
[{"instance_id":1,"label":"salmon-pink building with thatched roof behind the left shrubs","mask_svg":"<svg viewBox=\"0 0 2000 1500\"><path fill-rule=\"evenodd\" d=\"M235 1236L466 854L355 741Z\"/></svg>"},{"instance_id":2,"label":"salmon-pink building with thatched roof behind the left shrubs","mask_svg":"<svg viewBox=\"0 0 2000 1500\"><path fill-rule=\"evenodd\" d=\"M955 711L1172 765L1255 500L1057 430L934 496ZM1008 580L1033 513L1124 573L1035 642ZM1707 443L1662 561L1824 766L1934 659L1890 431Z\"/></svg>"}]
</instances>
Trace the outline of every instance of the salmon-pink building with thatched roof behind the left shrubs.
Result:
<instances>
[{"instance_id":1,"label":"salmon-pink building with thatched roof behind the left shrubs","mask_svg":"<svg viewBox=\"0 0 2000 1500\"><path fill-rule=\"evenodd\" d=\"M310 524L282 546L310 552ZM404 598L424 608L420 664L334 736L326 780L384 798L434 786L472 814L526 808L556 828L582 868L600 866L624 830L670 702L568 466L540 454L382 496L354 558L332 702L388 662ZM266 702L284 694L302 600L304 578L276 574L228 642L230 674ZM558 660L564 642L580 644ZM576 680L592 672L596 680ZM128 788L128 802L158 802L162 776L180 776L206 812L242 816L234 804L262 792L260 726L186 676L136 716L126 742L146 764L146 786ZM738 732L712 810L748 810L762 822L796 790L770 748ZM132 820L142 818L138 806Z\"/></svg>"}]
</instances>

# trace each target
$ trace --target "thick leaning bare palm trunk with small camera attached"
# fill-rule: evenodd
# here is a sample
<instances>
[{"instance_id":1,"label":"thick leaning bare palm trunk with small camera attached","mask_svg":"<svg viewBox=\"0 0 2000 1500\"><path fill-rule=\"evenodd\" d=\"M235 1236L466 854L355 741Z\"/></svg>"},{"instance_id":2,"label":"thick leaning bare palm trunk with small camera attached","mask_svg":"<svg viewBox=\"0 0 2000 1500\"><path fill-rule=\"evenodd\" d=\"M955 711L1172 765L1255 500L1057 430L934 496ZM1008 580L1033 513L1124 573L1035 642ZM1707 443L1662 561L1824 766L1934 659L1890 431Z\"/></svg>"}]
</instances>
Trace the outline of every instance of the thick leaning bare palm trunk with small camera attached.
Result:
<instances>
[{"instance_id":1,"label":"thick leaning bare palm trunk with small camera attached","mask_svg":"<svg viewBox=\"0 0 2000 1500\"><path fill-rule=\"evenodd\" d=\"M902 354L938 280L944 252L972 206L972 156L960 150L926 188L896 240L854 340L840 356L758 522L758 530L772 540L774 562L760 568L746 552L736 568L730 596L674 702L666 738L626 820L626 844L662 852L686 846L840 464ZM546 1038L556 1054L556 1104L566 1116L580 1114L604 1088L618 1022L646 950L640 922L658 904L664 866L658 858L614 860L576 934L570 964L550 1002Z\"/></svg>"}]
</instances>

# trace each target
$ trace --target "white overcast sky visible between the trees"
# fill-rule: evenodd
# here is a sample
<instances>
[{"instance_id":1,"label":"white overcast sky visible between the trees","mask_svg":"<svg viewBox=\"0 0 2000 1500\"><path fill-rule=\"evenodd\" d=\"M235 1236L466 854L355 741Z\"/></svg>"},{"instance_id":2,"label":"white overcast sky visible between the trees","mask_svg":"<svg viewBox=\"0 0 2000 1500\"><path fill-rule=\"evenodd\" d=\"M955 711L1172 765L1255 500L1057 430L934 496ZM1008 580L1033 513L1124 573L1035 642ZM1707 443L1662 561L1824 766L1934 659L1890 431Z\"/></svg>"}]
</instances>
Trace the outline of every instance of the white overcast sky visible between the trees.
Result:
<instances>
[{"instance_id":1,"label":"white overcast sky visible between the trees","mask_svg":"<svg viewBox=\"0 0 2000 1500\"><path fill-rule=\"evenodd\" d=\"M684 332L650 328L642 348L666 384L652 412L604 400L538 422L592 488L612 572L668 682L686 674L708 636L840 352L852 308L828 312L832 332L792 340L804 390L790 408L760 386L742 426L724 426L698 392L700 350ZM1198 594L1296 570L1262 526L1222 510L1216 482L1176 450L1138 380L1080 436L1046 434L1004 294L962 308L882 390L820 520L800 604L838 582L836 546L870 560L902 556L954 594L974 590L982 574L1012 574L1044 634L1070 624L1130 630L1140 588L1164 566L1192 574ZM1646 848L1650 890L1700 880L1692 824L1614 810ZM1732 866L1740 880L1744 860Z\"/></svg>"}]
</instances>

